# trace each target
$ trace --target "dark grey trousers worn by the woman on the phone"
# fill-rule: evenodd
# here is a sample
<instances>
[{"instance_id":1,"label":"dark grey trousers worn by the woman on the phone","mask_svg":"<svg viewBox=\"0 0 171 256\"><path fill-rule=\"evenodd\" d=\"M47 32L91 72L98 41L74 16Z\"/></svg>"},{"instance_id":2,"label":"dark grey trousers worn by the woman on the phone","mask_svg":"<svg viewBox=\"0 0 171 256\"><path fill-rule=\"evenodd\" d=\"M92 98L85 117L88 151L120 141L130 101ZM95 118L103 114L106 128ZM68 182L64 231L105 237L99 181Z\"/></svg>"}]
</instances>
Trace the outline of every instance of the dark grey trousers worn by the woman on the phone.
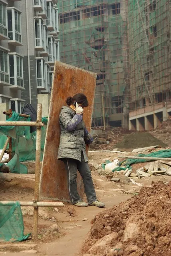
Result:
<instances>
[{"instance_id":1,"label":"dark grey trousers worn by the woman on the phone","mask_svg":"<svg viewBox=\"0 0 171 256\"><path fill-rule=\"evenodd\" d=\"M80 172L83 179L87 202L88 204L93 203L96 200L96 195L91 178L91 171L88 163L84 160L83 153L81 162L72 158L65 158L63 161L68 172L68 187L72 204L82 201L77 191L77 170Z\"/></svg>"}]
</instances>

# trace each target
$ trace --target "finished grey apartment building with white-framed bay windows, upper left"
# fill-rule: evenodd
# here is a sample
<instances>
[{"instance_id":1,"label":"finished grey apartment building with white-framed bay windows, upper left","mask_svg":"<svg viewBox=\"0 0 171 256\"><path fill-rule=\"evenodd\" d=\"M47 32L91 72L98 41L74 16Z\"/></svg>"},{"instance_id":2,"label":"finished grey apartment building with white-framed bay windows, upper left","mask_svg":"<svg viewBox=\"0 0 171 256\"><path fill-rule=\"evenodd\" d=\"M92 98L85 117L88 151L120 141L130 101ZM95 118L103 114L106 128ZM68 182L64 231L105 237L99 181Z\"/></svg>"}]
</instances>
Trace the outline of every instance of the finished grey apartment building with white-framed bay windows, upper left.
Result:
<instances>
[{"instance_id":1,"label":"finished grey apartment building with white-framed bay windows, upper left","mask_svg":"<svg viewBox=\"0 0 171 256\"><path fill-rule=\"evenodd\" d=\"M58 34L56 0L0 0L0 103L21 113L50 94Z\"/></svg>"}]
</instances>

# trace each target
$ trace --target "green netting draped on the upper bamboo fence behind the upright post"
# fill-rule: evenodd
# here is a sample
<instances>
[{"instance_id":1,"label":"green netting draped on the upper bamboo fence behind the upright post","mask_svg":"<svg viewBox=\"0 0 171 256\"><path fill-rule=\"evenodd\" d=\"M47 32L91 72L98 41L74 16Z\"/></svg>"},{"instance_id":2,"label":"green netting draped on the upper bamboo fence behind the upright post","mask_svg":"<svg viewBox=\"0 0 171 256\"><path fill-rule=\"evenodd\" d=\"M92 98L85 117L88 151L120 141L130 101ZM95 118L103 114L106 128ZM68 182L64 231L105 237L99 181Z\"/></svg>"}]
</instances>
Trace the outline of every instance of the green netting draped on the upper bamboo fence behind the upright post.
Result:
<instances>
[{"instance_id":1,"label":"green netting draped on the upper bamboo fence behind the upright post","mask_svg":"<svg viewBox=\"0 0 171 256\"><path fill-rule=\"evenodd\" d=\"M12 117L6 121L31 121L30 117L20 117L16 112L12 112ZM41 161L43 158L44 143L48 119L42 118L44 126L41 140ZM28 169L20 162L34 161L36 156L36 132L30 133L29 126L0 126L0 149L4 147L6 136L12 137L12 159L6 164L11 173L27 173ZM2 163L0 164L0 167Z\"/></svg>"}]
</instances>

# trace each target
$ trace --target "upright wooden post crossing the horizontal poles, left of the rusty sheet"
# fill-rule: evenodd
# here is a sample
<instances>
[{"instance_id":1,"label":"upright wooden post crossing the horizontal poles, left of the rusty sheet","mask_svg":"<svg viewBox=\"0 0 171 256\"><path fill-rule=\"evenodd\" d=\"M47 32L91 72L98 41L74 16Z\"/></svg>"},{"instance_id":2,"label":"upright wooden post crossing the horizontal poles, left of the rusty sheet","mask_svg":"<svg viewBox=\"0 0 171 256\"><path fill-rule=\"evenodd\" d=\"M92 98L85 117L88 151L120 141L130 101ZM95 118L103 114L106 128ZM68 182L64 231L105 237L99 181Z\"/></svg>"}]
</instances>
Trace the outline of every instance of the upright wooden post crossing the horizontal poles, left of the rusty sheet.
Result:
<instances>
[{"instance_id":1,"label":"upright wooden post crossing the horizontal poles, left of the rusty sheet","mask_svg":"<svg viewBox=\"0 0 171 256\"><path fill-rule=\"evenodd\" d=\"M42 104L38 103L37 122L42 121ZM37 127L36 133L36 163L35 163L35 187L34 187L34 203L39 201L39 183L40 183L40 153L41 153L41 127ZM34 225L33 235L38 235L38 207L34 207Z\"/></svg>"}]
</instances>

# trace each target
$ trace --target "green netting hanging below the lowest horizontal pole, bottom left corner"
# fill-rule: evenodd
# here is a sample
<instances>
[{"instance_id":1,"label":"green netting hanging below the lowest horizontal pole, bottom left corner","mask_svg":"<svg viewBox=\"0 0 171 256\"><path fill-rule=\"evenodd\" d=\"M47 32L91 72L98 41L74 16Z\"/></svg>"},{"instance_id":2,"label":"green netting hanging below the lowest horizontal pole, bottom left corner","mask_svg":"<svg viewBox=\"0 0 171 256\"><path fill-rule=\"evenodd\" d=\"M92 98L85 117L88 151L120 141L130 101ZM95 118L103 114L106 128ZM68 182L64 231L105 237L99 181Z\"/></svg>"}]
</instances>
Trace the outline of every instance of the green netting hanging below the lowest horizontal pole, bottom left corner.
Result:
<instances>
[{"instance_id":1,"label":"green netting hanging below the lowest horizontal pole, bottom left corner","mask_svg":"<svg viewBox=\"0 0 171 256\"><path fill-rule=\"evenodd\" d=\"M10 205L0 204L0 242L19 242L28 239L24 235L24 223L19 202Z\"/></svg>"}]
</instances>

